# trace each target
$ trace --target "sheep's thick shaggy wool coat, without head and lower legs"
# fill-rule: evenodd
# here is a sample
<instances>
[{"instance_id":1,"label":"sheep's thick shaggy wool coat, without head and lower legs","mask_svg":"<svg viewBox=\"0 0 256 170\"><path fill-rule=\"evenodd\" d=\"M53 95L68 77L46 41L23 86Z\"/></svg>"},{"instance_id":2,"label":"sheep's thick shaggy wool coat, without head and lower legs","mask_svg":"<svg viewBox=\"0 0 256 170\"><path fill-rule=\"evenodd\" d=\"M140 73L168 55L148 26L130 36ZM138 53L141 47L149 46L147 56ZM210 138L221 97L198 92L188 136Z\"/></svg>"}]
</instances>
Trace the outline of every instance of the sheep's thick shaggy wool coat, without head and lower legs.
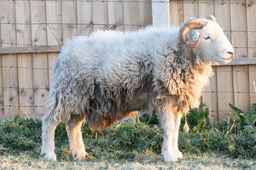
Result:
<instances>
[{"instance_id":1,"label":"sheep's thick shaggy wool coat, without head and lower legs","mask_svg":"<svg viewBox=\"0 0 256 170\"><path fill-rule=\"evenodd\" d=\"M90 128L102 130L164 98L175 99L180 113L198 106L212 69L201 52L179 42L178 30L99 31L70 40L53 69L49 120L82 114Z\"/></svg>"}]
</instances>

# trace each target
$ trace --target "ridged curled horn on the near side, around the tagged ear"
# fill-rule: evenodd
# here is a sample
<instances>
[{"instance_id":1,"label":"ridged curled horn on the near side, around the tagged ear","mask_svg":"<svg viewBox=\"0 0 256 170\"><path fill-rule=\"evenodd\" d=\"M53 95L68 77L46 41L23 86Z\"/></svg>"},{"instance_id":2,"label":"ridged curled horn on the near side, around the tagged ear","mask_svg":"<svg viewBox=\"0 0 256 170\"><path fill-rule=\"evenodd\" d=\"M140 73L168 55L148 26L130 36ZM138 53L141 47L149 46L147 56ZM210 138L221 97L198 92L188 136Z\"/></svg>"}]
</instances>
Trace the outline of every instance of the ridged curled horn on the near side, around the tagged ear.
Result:
<instances>
[{"instance_id":1,"label":"ridged curled horn on the near side, around the tagged ear","mask_svg":"<svg viewBox=\"0 0 256 170\"><path fill-rule=\"evenodd\" d=\"M203 26L206 26L206 23L207 22L202 19L191 19L186 21L186 23L183 23L178 33L180 41L183 42L183 44L186 45L186 47L189 47L189 48L196 47L199 43L199 39L196 41L190 42L186 38L186 33L188 33L188 31L192 29L203 28Z\"/></svg>"}]
</instances>

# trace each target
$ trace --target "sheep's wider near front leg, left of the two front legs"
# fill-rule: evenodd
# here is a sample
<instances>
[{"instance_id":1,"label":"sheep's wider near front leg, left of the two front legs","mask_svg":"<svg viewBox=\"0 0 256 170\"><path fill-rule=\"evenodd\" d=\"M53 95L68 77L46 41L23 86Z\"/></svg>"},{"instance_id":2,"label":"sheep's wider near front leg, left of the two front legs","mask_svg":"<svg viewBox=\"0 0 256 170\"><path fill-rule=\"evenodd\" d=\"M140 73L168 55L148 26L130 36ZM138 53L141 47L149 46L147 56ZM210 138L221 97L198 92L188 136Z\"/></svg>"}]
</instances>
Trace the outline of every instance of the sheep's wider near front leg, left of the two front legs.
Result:
<instances>
[{"instance_id":1,"label":"sheep's wider near front leg, left of the two front legs","mask_svg":"<svg viewBox=\"0 0 256 170\"><path fill-rule=\"evenodd\" d=\"M164 130L164 143L162 147L162 154L166 162L176 162L178 160L176 154L174 153L174 113L173 108L162 108L159 113L160 125Z\"/></svg>"}]
</instances>

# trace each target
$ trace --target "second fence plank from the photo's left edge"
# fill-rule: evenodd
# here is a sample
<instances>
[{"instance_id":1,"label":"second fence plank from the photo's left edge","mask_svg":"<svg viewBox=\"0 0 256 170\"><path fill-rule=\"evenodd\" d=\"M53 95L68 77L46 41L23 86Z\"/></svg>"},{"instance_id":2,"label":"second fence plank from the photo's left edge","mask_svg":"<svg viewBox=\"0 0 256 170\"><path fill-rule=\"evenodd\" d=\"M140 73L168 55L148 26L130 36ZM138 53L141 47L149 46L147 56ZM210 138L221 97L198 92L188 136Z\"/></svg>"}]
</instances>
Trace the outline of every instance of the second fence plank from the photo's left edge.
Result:
<instances>
[{"instance_id":1,"label":"second fence plank from the photo's left edge","mask_svg":"<svg viewBox=\"0 0 256 170\"><path fill-rule=\"evenodd\" d=\"M15 2L16 23L31 23L30 1ZM31 25L16 25L16 37L18 46L32 45ZM20 106L27 114L34 113L33 95L33 56L31 54L18 55L18 86ZM26 67L26 68L24 68Z\"/></svg>"}]
</instances>

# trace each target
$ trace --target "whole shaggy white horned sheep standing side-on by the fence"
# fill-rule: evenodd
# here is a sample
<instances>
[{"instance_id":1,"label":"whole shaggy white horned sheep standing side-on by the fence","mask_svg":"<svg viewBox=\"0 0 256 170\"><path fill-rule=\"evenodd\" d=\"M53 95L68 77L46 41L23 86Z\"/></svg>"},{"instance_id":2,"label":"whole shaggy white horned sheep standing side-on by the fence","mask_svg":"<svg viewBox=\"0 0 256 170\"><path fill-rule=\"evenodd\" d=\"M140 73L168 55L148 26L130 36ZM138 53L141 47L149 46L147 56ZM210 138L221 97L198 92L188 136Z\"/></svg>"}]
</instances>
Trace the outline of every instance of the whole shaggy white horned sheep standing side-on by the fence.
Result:
<instances>
[{"instance_id":1,"label":"whole shaggy white horned sheep standing side-on by the fence","mask_svg":"<svg viewBox=\"0 0 256 170\"><path fill-rule=\"evenodd\" d=\"M198 106L213 74L211 62L228 63L233 47L214 16L194 18L181 27L136 32L99 31L63 47L53 69L43 116L41 154L56 160L54 132L66 121L74 159L85 159L81 125L103 130L133 111L155 109L164 130L162 154L178 151L181 113ZM112 145L112 144L110 144Z\"/></svg>"}]
</instances>

